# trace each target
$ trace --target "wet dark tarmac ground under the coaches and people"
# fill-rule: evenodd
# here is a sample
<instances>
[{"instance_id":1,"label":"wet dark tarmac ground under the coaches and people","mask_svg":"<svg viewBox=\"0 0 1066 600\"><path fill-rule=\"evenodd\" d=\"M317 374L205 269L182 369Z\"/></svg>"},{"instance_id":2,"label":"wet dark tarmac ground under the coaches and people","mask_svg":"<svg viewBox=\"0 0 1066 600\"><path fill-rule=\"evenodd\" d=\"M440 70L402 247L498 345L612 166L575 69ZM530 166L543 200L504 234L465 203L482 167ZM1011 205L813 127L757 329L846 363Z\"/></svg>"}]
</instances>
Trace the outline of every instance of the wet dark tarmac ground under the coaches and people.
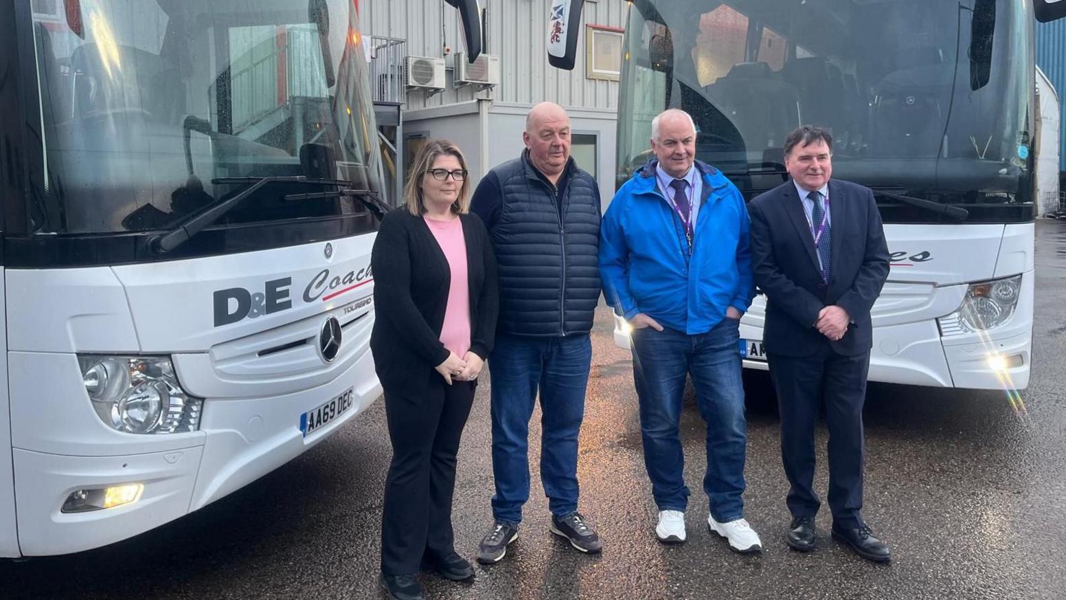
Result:
<instances>
[{"instance_id":1,"label":"wet dark tarmac ground under the coaches and people","mask_svg":"<svg viewBox=\"0 0 1066 600\"><path fill-rule=\"evenodd\" d=\"M704 425L685 411L689 541L656 541L656 507L641 454L629 353L614 347L600 311L581 433L581 510L603 553L586 556L548 532L534 481L519 539L470 583L422 575L427 598L1066 597L1066 222L1037 222L1036 325L1025 412L1003 393L872 385L866 407L865 516L892 547L891 565L867 563L829 539L785 544L787 483L769 382L749 397L746 517L765 552L742 556L706 528ZM485 382L487 383L487 381ZM691 401L691 400L690 400ZM536 421L537 416L534 416ZM825 429L817 487L826 489ZM488 385L463 438L455 491L456 547L472 558L491 523ZM0 599L381 598L382 489L390 449L384 405L246 488L158 530L69 556L0 562Z\"/></svg>"}]
</instances>

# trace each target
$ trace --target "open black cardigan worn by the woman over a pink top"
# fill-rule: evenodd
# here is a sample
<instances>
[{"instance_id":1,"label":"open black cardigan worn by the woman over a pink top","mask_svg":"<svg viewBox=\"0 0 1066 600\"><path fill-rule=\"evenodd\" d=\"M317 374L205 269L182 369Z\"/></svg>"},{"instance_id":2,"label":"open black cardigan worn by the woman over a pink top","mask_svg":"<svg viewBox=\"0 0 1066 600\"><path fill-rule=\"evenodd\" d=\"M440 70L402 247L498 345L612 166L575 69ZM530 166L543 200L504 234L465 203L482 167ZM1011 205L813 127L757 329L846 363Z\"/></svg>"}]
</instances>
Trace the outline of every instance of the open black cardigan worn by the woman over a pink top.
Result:
<instances>
[{"instance_id":1,"label":"open black cardigan worn by the woman over a pink top","mask_svg":"<svg viewBox=\"0 0 1066 600\"><path fill-rule=\"evenodd\" d=\"M496 334L496 256L481 219L459 215L470 289L470 350L487 359ZM386 392L416 395L449 350L440 342L451 268L422 217L405 207L385 216L370 258L376 320L370 335L374 368ZM462 358L462 357L459 357Z\"/></svg>"}]
</instances>

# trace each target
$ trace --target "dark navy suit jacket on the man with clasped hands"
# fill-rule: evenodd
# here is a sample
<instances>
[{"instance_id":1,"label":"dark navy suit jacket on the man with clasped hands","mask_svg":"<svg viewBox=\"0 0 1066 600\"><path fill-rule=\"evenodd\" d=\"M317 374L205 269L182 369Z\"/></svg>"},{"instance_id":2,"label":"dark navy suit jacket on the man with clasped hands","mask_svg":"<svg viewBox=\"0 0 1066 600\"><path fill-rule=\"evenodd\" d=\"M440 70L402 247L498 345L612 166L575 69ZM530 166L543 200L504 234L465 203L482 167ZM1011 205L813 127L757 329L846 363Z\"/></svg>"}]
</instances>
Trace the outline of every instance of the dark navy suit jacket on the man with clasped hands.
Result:
<instances>
[{"instance_id":1,"label":"dark navy suit jacket on the man with clasped hands","mask_svg":"<svg viewBox=\"0 0 1066 600\"><path fill-rule=\"evenodd\" d=\"M748 205L755 283L766 296L763 345L792 357L828 344L838 354L870 350L870 309L888 279L889 255L881 214L869 188L829 180L829 281L822 281L803 202L789 180ZM827 305L847 311L844 336L830 342L814 325Z\"/></svg>"}]
</instances>

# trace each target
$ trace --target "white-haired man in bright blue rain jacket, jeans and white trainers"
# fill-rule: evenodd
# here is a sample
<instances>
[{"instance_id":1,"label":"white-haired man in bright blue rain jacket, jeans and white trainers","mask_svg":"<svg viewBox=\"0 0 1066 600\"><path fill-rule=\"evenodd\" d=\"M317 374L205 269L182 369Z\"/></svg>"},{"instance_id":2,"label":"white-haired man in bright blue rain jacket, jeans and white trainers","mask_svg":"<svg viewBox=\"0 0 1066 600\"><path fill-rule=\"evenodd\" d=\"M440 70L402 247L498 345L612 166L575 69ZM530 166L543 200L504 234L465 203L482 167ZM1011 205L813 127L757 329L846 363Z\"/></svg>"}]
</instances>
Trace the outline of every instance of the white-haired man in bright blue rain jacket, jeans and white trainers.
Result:
<instances>
[{"instance_id":1,"label":"white-haired man in bright blue rain jacket, jeans and white trainers","mask_svg":"<svg viewBox=\"0 0 1066 600\"><path fill-rule=\"evenodd\" d=\"M687 537L678 423L691 375L707 422L707 525L732 550L759 552L742 498L739 326L755 295L747 209L729 179L695 160L688 113L657 116L651 149L656 158L618 190L603 216L599 265L608 303L632 327L644 463L659 507L656 536L664 543Z\"/></svg>"}]
</instances>

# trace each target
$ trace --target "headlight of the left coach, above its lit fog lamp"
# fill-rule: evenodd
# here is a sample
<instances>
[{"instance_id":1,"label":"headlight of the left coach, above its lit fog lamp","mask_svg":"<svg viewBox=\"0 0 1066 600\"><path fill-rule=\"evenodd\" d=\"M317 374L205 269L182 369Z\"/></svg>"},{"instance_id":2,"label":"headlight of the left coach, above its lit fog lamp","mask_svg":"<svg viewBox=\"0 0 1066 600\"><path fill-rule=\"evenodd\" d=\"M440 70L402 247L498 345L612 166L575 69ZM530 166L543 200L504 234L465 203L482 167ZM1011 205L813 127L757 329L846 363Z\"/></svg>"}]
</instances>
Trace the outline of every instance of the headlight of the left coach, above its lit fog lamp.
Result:
<instances>
[{"instance_id":1,"label":"headlight of the left coach, above its lit fog lamp","mask_svg":"<svg viewBox=\"0 0 1066 600\"><path fill-rule=\"evenodd\" d=\"M204 399L178 383L167 357L78 357L85 392L97 416L126 433L180 433L199 429Z\"/></svg>"}]
</instances>

